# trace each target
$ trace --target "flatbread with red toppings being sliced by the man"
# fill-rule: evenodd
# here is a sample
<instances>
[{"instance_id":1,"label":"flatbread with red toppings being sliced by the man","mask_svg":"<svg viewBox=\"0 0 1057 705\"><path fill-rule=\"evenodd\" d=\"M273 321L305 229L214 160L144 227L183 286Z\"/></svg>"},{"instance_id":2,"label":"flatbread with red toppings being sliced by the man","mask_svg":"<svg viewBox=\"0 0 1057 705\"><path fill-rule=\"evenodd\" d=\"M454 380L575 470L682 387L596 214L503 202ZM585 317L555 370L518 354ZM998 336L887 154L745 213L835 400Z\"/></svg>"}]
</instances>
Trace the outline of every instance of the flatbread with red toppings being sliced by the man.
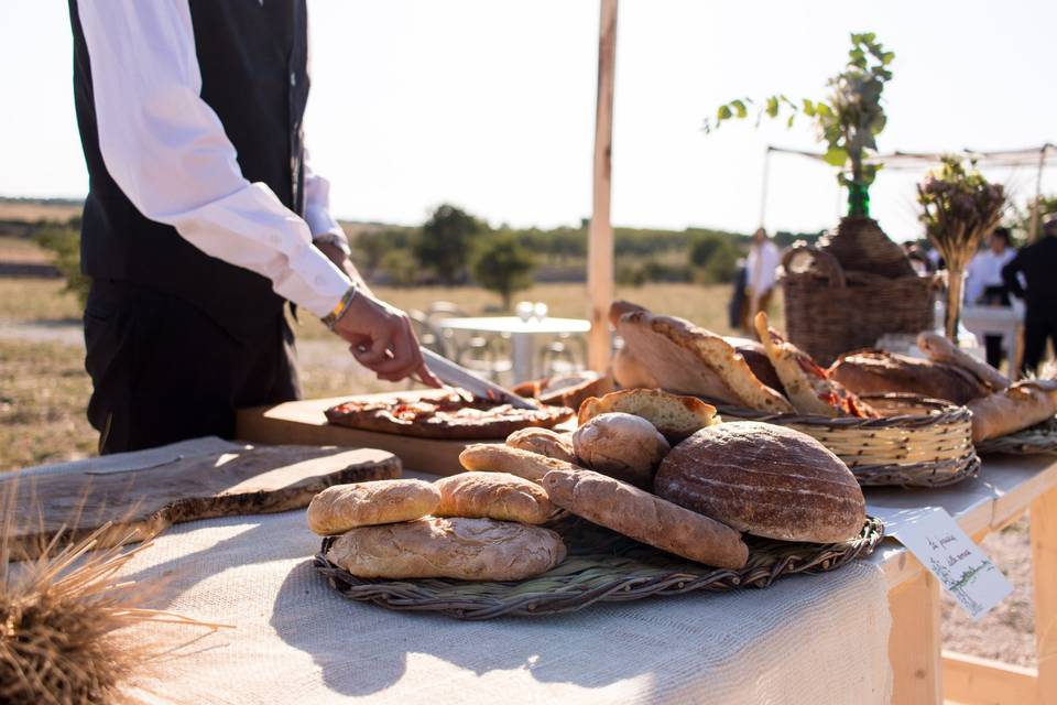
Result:
<instances>
[{"instance_id":1,"label":"flatbread with red toppings being sliced by the man","mask_svg":"<svg viewBox=\"0 0 1057 705\"><path fill-rule=\"evenodd\" d=\"M573 416L565 406L515 409L464 390L352 399L326 411L327 421L361 431L421 438L505 438L514 431L551 429Z\"/></svg>"}]
</instances>

